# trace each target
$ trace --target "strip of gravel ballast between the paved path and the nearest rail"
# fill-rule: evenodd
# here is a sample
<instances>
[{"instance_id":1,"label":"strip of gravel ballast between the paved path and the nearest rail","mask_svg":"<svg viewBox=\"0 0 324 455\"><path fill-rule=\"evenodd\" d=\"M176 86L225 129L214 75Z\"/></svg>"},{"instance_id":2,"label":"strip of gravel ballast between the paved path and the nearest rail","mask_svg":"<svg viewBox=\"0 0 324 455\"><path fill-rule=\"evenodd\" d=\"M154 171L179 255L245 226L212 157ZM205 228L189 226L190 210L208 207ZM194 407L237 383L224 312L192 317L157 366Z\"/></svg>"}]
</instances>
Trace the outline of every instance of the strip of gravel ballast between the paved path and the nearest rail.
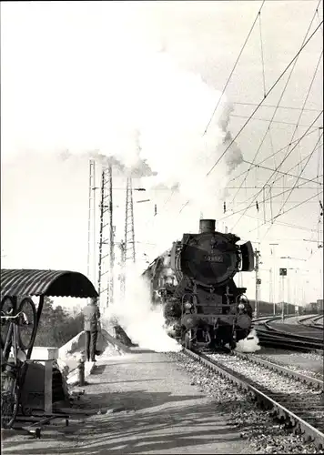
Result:
<instances>
[{"instance_id":1,"label":"strip of gravel ballast between the paved path and the nearest rail","mask_svg":"<svg viewBox=\"0 0 324 455\"><path fill-rule=\"evenodd\" d=\"M250 441L255 453L324 453L324 450L317 450L314 444L306 443L299 435L286 430L283 424L276 423L268 411L259 410L245 393L197 360L183 353L168 353L167 356L177 360L179 369L187 370L192 385L197 385L212 399L216 399L224 412L230 412L230 418L240 431L241 438Z\"/></svg>"}]
</instances>

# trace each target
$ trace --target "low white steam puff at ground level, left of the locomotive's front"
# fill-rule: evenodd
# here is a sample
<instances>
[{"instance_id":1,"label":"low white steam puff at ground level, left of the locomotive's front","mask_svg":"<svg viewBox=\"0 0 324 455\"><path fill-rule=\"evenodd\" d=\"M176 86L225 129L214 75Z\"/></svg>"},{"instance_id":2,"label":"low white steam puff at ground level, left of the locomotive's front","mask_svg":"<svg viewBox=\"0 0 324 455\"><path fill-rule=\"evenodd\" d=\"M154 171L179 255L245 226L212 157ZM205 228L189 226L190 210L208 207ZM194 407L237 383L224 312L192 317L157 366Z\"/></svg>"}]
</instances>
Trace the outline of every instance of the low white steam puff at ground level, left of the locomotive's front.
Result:
<instances>
[{"instance_id":1,"label":"low white steam puff at ground level, left of the locomotive's front","mask_svg":"<svg viewBox=\"0 0 324 455\"><path fill-rule=\"evenodd\" d=\"M127 268L125 298L116 295L114 303L106 311L105 327L111 327L116 320L133 343L142 349L157 352L181 350L177 341L168 337L162 308L152 306L149 284L138 276L135 267Z\"/></svg>"}]
</instances>

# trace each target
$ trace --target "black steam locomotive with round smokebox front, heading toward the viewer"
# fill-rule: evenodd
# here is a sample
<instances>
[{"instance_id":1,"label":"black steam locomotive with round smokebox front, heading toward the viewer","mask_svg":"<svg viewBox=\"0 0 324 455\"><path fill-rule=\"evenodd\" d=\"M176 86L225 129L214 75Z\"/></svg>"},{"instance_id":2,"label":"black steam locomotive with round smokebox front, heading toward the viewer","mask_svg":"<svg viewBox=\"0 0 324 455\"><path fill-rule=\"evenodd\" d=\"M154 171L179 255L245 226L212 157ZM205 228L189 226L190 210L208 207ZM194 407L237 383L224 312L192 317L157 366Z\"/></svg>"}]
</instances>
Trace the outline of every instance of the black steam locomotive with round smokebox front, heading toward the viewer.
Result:
<instances>
[{"instance_id":1,"label":"black steam locomotive with round smokebox front, heading toward the viewer","mask_svg":"<svg viewBox=\"0 0 324 455\"><path fill-rule=\"evenodd\" d=\"M198 234L183 234L143 272L154 305L162 305L168 334L188 349L233 349L248 336L252 308L233 280L254 269L250 242L200 219Z\"/></svg>"}]
</instances>

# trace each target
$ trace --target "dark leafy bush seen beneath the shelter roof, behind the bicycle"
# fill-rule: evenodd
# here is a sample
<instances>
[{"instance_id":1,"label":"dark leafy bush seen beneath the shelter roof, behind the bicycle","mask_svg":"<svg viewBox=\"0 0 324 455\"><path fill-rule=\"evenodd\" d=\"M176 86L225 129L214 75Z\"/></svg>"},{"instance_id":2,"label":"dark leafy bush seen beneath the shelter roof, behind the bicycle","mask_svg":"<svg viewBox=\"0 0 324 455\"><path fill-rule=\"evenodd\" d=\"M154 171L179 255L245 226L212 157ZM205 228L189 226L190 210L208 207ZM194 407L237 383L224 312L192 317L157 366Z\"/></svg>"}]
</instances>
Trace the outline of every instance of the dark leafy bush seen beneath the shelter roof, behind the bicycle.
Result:
<instances>
[{"instance_id":1,"label":"dark leafy bush seen beneath the shelter roof, behind the bicycle","mask_svg":"<svg viewBox=\"0 0 324 455\"><path fill-rule=\"evenodd\" d=\"M81 314L72 316L60 306L54 308L53 301L45 298L35 346L61 348L82 330L83 317Z\"/></svg>"}]
</instances>

